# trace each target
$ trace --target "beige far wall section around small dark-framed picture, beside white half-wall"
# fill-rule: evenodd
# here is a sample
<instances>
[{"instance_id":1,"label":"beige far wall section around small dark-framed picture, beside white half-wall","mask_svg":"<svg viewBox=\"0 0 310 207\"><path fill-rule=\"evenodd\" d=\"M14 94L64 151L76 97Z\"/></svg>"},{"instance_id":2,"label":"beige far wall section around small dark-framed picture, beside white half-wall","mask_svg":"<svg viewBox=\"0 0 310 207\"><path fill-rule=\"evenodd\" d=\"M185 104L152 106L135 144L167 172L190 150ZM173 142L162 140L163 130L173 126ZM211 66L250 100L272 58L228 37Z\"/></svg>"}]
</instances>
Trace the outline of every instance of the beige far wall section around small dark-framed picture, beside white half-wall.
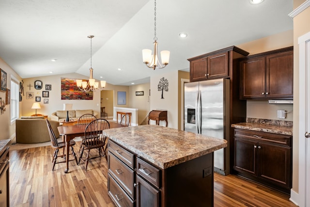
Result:
<instances>
[{"instance_id":1,"label":"beige far wall section around small dark-framed picture, beside white half-wall","mask_svg":"<svg viewBox=\"0 0 310 207\"><path fill-rule=\"evenodd\" d=\"M143 91L144 96L136 96L136 91ZM150 112L150 83L132 85L129 87L129 108L139 109L138 124L148 117ZM146 119L147 122L147 119Z\"/></svg>"}]
</instances>

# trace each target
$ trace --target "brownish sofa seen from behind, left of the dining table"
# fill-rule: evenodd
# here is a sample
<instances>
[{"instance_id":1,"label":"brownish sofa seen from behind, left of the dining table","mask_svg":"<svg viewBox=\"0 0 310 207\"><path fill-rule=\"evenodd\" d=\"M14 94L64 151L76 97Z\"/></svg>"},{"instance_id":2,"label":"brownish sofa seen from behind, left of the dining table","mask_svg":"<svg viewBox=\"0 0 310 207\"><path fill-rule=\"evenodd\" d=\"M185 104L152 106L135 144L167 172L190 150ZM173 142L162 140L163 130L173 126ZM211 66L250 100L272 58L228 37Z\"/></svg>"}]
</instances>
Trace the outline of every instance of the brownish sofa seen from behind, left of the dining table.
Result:
<instances>
[{"instance_id":1,"label":"brownish sofa seen from behind, left of the dining table","mask_svg":"<svg viewBox=\"0 0 310 207\"><path fill-rule=\"evenodd\" d=\"M59 122L49 120L49 123L59 137L57 127ZM50 141L47 122L44 116L22 116L16 119L16 143L45 143Z\"/></svg>"}]
</instances>

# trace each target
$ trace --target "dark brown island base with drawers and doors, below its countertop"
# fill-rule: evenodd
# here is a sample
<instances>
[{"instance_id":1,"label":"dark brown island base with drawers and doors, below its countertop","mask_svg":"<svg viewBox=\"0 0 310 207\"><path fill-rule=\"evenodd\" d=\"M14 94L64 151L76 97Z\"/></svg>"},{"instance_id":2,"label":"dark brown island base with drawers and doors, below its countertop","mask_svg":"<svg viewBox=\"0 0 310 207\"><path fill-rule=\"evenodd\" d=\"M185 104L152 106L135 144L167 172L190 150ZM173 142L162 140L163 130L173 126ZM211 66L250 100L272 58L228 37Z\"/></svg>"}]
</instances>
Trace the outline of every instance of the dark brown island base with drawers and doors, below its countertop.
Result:
<instances>
[{"instance_id":1,"label":"dark brown island base with drawers and doors, below its countertop","mask_svg":"<svg viewBox=\"0 0 310 207\"><path fill-rule=\"evenodd\" d=\"M213 207L213 159L161 169L109 140L108 194L118 207Z\"/></svg>"}]
</instances>

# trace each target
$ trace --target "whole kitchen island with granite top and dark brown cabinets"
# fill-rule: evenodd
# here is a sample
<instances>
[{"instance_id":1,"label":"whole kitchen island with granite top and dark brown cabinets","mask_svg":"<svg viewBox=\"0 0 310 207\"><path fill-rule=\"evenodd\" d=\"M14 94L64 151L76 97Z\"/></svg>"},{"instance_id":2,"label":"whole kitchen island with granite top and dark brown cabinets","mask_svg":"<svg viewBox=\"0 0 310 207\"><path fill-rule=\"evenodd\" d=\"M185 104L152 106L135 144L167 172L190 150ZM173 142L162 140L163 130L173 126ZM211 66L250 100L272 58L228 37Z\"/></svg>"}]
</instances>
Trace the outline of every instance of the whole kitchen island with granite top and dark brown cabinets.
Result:
<instances>
[{"instance_id":1,"label":"whole kitchen island with granite top and dark brown cabinets","mask_svg":"<svg viewBox=\"0 0 310 207\"><path fill-rule=\"evenodd\" d=\"M214 151L226 140L156 125L103 131L117 206L213 206Z\"/></svg>"}]
</instances>

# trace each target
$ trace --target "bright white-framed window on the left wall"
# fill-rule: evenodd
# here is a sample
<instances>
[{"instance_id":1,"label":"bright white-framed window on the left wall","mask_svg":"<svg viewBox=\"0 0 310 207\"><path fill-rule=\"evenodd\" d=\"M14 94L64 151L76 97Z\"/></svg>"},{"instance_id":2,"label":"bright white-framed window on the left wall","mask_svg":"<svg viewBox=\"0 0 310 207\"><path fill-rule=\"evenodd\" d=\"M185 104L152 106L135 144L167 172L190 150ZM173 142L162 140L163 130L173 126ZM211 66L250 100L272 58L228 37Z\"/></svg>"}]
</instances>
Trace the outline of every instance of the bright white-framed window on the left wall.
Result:
<instances>
[{"instance_id":1,"label":"bright white-framed window on the left wall","mask_svg":"<svg viewBox=\"0 0 310 207\"><path fill-rule=\"evenodd\" d=\"M19 84L11 75L11 124L19 117Z\"/></svg>"}]
</instances>

